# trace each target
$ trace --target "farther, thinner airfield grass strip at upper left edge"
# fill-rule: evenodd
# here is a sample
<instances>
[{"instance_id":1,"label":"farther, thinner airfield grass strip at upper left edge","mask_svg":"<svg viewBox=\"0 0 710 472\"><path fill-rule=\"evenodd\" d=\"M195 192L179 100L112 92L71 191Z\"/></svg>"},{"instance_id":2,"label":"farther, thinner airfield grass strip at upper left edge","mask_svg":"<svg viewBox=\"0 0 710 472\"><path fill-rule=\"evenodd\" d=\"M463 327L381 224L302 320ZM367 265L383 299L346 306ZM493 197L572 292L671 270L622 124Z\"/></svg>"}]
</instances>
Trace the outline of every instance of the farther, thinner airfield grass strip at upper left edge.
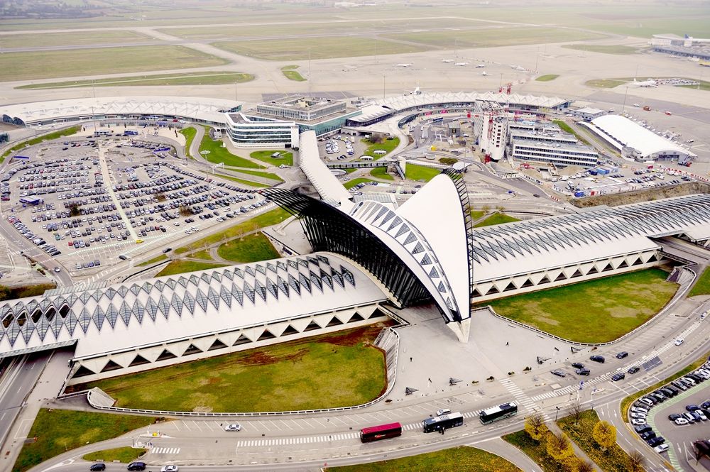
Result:
<instances>
[{"instance_id":1,"label":"farther, thinner airfield grass strip at upper left edge","mask_svg":"<svg viewBox=\"0 0 710 472\"><path fill-rule=\"evenodd\" d=\"M0 48L130 44L152 39L135 31L76 31L75 33L0 35Z\"/></svg>"}]
</instances>

